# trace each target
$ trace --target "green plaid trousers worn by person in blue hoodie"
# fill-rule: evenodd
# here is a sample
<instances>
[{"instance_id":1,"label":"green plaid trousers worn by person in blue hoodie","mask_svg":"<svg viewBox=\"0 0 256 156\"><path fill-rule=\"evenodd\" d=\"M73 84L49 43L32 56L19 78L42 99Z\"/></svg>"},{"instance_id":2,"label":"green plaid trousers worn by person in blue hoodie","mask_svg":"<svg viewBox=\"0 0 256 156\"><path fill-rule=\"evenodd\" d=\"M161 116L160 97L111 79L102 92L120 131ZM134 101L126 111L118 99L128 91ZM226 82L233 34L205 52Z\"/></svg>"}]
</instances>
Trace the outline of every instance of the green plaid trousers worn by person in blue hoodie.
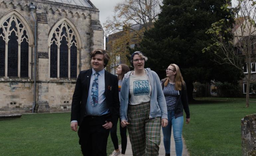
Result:
<instances>
[{"instance_id":1,"label":"green plaid trousers worn by person in blue hoodie","mask_svg":"<svg viewBox=\"0 0 256 156\"><path fill-rule=\"evenodd\" d=\"M133 156L158 156L161 117L149 118L150 102L128 106L127 129Z\"/></svg>"}]
</instances>

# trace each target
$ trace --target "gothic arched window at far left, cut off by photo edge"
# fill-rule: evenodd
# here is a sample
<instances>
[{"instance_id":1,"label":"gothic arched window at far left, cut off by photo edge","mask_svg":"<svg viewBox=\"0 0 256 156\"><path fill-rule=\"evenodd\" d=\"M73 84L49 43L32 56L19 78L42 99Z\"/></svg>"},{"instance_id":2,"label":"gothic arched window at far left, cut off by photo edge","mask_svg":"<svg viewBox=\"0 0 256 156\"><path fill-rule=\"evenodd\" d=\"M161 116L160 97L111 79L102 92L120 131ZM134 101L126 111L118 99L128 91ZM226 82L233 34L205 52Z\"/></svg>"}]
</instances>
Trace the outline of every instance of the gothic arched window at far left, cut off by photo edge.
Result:
<instances>
[{"instance_id":1,"label":"gothic arched window at far left, cut off by photo edge","mask_svg":"<svg viewBox=\"0 0 256 156\"><path fill-rule=\"evenodd\" d=\"M29 77L28 36L15 15L0 26L0 76Z\"/></svg>"}]
</instances>

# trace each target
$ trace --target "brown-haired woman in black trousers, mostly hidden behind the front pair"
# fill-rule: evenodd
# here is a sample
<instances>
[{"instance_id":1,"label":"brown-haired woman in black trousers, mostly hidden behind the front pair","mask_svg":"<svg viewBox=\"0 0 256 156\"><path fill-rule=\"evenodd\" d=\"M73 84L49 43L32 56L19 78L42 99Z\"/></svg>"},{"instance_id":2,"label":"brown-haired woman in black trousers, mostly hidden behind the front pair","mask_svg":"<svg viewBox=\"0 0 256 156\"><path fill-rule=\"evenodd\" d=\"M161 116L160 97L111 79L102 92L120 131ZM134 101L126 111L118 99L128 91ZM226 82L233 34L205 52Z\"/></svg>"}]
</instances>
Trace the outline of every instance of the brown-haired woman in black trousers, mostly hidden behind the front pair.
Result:
<instances>
[{"instance_id":1,"label":"brown-haired woman in black trousers, mostly hidden behind the front pair","mask_svg":"<svg viewBox=\"0 0 256 156\"><path fill-rule=\"evenodd\" d=\"M130 71L130 68L126 64L120 64L116 68L116 75L118 75L118 90L119 90L119 100L120 100L120 91L121 91L121 85L122 85L122 80L124 78L124 74L126 74L128 71ZM127 146L127 136L126 136L126 127L121 126L121 119L120 121L120 135L121 135L121 148L122 151L119 150L118 146L118 138L117 138L117 123L115 123L112 128L110 129L110 136L112 139L112 142L114 144L115 150L113 151L111 156L117 156L120 155L124 156L125 151L126 151L126 146Z\"/></svg>"}]
</instances>

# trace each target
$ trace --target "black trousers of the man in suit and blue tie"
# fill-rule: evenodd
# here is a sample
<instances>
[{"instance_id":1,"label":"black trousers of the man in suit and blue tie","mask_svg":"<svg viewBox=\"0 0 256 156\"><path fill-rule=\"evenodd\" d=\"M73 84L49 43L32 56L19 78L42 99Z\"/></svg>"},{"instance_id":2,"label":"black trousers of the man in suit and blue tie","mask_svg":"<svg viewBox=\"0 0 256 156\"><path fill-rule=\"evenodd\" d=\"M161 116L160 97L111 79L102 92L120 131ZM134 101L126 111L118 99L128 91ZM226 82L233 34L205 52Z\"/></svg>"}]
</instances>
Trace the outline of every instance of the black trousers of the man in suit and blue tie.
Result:
<instances>
[{"instance_id":1,"label":"black trousers of the man in suit and blue tie","mask_svg":"<svg viewBox=\"0 0 256 156\"><path fill-rule=\"evenodd\" d=\"M78 136L84 156L106 156L109 129L102 127L105 116L86 116L79 126Z\"/></svg>"}]
</instances>

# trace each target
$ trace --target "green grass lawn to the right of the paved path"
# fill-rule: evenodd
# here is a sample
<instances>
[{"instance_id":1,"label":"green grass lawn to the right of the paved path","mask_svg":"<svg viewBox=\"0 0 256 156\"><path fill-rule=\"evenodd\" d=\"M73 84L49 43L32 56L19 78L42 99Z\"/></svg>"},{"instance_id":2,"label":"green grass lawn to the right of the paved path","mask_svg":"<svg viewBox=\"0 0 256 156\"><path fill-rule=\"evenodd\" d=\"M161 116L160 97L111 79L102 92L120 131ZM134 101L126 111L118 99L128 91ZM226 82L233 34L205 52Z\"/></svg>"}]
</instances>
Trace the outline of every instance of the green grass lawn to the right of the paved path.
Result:
<instances>
[{"instance_id":1,"label":"green grass lawn to the right of the paved path","mask_svg":"<svg viewBox=\"0 0 256 156\"><path fill-rule=\"evenodd\" d=\"M191 156L241 156L241 119L256 113L256 99L249 108L245 98L196 100L189 106L191 122L183 127Z\"/></svg>"}]
</instances>

